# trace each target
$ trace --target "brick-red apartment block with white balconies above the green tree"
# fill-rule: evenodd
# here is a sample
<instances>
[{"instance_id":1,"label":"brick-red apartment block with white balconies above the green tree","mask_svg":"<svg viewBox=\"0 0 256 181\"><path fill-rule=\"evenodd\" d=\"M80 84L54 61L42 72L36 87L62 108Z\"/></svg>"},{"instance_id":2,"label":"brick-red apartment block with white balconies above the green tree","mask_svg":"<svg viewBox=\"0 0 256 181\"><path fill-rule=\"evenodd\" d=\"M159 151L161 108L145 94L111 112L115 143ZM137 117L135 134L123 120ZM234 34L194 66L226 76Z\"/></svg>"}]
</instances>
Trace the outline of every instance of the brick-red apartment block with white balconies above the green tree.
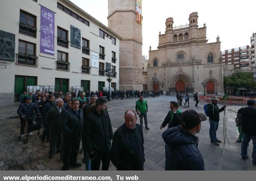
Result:
<instances>
[{"instance_id":1,"label":"brick-red apartment block with white balconies above the green tree","mask_svg":"<svg viewBox=\"0 0 256 181\"><path fill-rule=\"evenodd\" d=\"M251 71L255 67L249 45L221 51L221 57L224 65L234 64L235 71Z\"/></svg>"}]
</instances>

